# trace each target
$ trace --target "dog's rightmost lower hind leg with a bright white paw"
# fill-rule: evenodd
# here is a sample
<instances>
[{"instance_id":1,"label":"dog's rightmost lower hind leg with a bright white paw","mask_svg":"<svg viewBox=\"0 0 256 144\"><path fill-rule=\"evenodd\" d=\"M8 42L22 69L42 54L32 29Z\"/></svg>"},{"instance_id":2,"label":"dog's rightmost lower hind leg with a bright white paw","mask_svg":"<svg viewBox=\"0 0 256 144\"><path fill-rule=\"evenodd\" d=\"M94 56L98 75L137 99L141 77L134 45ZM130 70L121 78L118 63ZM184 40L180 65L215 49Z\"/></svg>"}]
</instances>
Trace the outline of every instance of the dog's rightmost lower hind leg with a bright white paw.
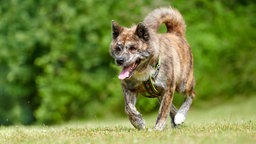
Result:
<instances>
[{"instance_id":1,"label":"dog's rightmost lower hind leg with a bright white paw","mask_svg":"<svg viewBox=\"0 0 256 144\"><path fill-rule=\"evenodd\" d=\"M174 118L175 125L180 125L185 121L187 112L192 104L192 101L193 101L193 96L188 96L185 99L180 109L178 110L177 114L175 115L175 118Z\"/></svg>"}]
</instances>

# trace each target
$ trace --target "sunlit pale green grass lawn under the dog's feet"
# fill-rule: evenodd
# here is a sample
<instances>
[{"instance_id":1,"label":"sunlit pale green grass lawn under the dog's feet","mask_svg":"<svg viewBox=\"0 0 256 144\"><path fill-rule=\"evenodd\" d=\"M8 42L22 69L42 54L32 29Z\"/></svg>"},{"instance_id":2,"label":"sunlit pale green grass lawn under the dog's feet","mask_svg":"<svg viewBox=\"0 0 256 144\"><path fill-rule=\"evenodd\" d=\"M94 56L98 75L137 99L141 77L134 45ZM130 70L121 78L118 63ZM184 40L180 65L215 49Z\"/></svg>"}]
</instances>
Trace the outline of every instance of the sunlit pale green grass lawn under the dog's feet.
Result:
<instances>
[{"instance_id":1,"label":"sunlit pale green grass lawn under the dog's feet","mask_svg":"<svg viewBox=\"0 0 256 144\"><path fill-rule=\"evenodd\" d=\"M156 114L145 117L147 130L138 131L128 119L72 122L58 126L0 127L1 144L253 144L256 143L256 97L233 100L203 110L191 109L183 126L154 131Z\"/></svg>"}]
</instances>

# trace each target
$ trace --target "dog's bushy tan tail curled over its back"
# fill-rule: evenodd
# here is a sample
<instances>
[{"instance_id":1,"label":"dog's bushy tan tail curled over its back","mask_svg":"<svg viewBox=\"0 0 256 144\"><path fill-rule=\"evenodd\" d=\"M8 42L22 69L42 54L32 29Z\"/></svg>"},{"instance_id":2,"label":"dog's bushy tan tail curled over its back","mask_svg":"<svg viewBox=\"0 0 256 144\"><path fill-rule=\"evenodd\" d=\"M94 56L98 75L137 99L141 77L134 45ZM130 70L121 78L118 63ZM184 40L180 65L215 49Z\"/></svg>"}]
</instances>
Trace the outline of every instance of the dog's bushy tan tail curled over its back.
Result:
<instances>
[{"instance_id":1,"label":"dog's bushy tan tail curled over its back","mask_svg":"<svg viewBox=\"0 0 256 144\"><path fill-rule=\"evenodd\" d=\"M149 13L143 23L154 32L157 32L162 23L166 25L168 33L184 35L186 24L178 10L173 8L159 8Z\"/></svg>"}]
</instances>

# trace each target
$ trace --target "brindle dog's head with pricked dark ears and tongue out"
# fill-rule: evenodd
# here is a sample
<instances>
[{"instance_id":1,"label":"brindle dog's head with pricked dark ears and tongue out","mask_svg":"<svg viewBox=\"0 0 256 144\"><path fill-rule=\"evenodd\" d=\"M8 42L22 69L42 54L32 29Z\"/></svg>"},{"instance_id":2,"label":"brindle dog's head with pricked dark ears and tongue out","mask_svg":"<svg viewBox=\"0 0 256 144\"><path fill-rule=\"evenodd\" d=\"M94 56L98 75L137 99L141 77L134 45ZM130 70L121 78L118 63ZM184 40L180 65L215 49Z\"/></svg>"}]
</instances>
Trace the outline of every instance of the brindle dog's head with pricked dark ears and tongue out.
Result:
<instances>
[{"instance_id":1,"label":"brindle dog's head with pricked dark ears and tongue out","mask_svg":"<svg viewBox=\"0 0 256 144\"><path fill-rule=\"evenodd\" d=\"M122 67L119 79L130 78L135 71L146 69L152 53L150 33L143 23L126 28L112 21L110 54L116 64Z\"/></svg>"}]
</instances>

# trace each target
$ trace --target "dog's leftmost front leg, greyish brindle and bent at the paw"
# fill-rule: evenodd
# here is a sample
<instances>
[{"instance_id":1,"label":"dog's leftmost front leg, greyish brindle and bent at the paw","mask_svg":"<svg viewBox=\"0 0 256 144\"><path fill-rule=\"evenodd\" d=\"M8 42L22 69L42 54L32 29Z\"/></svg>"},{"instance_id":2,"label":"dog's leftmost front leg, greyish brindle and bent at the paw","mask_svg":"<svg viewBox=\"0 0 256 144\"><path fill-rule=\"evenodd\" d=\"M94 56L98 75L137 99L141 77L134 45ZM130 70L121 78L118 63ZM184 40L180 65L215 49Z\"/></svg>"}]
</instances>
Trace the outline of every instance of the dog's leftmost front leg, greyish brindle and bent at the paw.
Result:
<instances>
[{"instance_id":1,"label":"dog's leftmost front leg, greyish brindle and bent at the paw","mask_svg":"<svg viewBox=\"0 0 256 144\"><path fill-rule=\"evenodd\" d=\"M145 121L135 107L137 93L125 87L123 87L123 93L125 100L125 112L129 117L130 122L137 129L145 129Z\"/></svg>"}]
</instances>

